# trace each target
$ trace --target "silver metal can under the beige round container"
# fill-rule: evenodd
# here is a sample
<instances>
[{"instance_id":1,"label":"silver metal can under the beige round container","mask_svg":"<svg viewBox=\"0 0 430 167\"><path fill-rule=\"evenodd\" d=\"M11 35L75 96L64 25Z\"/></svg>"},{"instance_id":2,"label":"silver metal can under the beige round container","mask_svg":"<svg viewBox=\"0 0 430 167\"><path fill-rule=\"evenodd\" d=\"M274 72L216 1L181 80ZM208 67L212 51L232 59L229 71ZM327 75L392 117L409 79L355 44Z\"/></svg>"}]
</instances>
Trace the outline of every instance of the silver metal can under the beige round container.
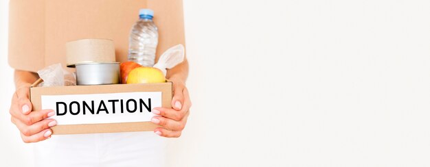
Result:
<instances>
[{"instance_id":1,"label":"silver metal can under the beige round container","mask_svg":"<svg viewBox=\"0 0 430 167\"><path fill-rule=\"evenodd\" d=\"M119 62L89 62L76 64L77 85L120 84Z\"/></svg>"}]
</instances>

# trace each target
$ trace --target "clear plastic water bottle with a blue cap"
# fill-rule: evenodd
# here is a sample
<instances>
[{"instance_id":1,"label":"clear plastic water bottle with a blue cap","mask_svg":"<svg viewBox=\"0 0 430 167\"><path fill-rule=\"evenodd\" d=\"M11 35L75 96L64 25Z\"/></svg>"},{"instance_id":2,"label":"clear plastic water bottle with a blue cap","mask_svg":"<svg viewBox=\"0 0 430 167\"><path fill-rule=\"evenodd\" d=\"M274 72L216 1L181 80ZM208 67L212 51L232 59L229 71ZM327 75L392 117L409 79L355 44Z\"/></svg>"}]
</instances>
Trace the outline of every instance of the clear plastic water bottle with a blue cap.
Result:
<instances>
[{"instance_id":1,"label":"clear plastic water bottle with a blue cap","mask_svg":"<svg viewBox=\"0 0 430 167\"><path fill-rule=\"evenodd\" d=\"M153 66L158 44L158 31L152 21L154 11L139 10L139 21L131 29L128 43L128 60L142 66Z\"/></svg>"}]
</instances>

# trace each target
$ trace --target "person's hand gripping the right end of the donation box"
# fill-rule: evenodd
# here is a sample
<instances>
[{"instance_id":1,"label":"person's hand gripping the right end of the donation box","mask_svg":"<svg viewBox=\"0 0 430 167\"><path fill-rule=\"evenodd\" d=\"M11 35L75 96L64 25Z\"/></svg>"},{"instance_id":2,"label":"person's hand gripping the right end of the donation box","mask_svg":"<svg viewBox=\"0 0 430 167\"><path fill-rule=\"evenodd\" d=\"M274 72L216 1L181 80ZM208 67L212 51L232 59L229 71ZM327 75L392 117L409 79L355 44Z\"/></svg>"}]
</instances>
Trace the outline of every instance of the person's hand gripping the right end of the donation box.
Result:
<instances>
[{"instance_id":1,"label":"person's hand gripping the right end of the donation box","mask_svg":"<svg viewBox=\"0 0 430 167\"><path fill-rule=\"evenodd\" d=\"M152 113L152 123L161 125L154 133L167 138L179 138L190 114L191 101L185 83L180 79L170 78L173 82L172 108L155 107Z\"/></svg>"}]
</instances>

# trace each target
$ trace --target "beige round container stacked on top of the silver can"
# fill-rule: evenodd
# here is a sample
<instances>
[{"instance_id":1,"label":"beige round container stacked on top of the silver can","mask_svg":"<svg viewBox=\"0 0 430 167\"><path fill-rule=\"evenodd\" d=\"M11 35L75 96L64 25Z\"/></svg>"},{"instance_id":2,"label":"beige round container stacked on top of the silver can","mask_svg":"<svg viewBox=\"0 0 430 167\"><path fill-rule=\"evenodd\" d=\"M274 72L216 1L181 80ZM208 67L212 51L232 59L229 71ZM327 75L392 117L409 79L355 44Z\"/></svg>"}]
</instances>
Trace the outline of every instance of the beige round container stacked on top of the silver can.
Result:
<instances>
[{"instance_id":1,"label":"beige round container stacked on top of the silver can","mask_svg":"<svg viewBox=\"0 0 430 167\"><path fill-rule=\"evenodd\" d=\"M83 39L66 43L68 67L87 62L116 62L113 40Z\"/></svg>"}]
</instances>

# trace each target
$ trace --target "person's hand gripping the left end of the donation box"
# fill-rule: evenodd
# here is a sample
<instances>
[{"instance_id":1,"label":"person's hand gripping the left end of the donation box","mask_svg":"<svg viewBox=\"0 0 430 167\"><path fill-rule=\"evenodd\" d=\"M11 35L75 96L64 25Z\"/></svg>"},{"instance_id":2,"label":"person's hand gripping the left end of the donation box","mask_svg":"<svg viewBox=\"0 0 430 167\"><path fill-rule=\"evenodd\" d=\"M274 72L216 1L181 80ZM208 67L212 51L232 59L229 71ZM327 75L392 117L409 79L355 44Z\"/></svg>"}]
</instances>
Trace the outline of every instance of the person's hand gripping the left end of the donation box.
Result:
<instances>
[{"instance_id":1,"label":"person's hand gripping the left end of the donation box","mask_svg":"<svg viewBox=\"0 0 430 167\"><path fill-rule=\"evenodd\" d=\"M23 142L40 142L51 137L52 130L57 122L54 119L45 119L54 116L54 110L40 110L32 112L32 103L29 100L30 85L18 88L12 97L10 105L11 121L21 131Z\"/></svg>"}]
</instances>

